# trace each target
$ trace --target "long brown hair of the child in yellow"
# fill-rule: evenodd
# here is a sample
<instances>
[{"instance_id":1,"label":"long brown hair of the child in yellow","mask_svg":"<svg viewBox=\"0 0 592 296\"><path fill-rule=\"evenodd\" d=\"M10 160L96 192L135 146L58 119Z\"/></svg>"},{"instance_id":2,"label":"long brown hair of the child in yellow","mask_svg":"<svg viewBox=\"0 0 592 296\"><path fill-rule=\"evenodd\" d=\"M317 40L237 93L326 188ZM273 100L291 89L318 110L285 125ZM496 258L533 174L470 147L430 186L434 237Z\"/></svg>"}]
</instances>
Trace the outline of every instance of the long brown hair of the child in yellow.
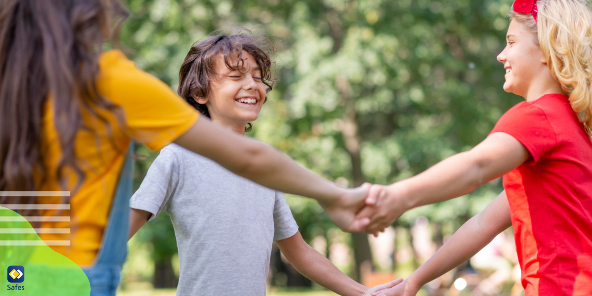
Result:
<instances>
[{"instance_id":1,"label":"long brown hair of the child in yellow","mask_svg":"<svg viewBox=\"0 0 592 296\"><path fill-rule=\"evenodd\" d=\"M66 186L66 167L76 172L74 191L82 184L74 143L89 127L82 125L81 110L111 128L96 108L117 106L98 93L95 81L102 44L111 31L117 37L126 17L118 0L0 2L0 191L34 191L34 172L45 175L40 143L49 97L62 150L60 187Z\"/></svg>"}]
</instances>

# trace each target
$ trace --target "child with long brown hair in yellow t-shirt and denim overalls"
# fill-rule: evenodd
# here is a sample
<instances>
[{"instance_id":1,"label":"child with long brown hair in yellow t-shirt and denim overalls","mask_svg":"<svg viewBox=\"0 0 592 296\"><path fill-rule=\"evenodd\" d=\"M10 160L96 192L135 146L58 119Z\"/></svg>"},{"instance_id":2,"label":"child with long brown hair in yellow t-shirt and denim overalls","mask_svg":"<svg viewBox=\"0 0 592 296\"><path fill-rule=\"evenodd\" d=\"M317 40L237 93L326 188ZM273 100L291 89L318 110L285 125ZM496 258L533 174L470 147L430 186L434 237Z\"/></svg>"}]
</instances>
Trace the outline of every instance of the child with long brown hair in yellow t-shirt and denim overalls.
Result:
<instances>
[{"instance_id":1,"label":"child with long brown hair in yellow t-shirt and denim overalls","mask_svg":"<svg viewBox=\"0 0 592 296\"><path fill-rule=\"evenodd\" d=\"M367 188L337 186L200 118L120 51L102 53L121 25L115 21L127 17L118 0L0 1L0 15L0 191L71 191L64 201L0 204L69 204L62 214L71 221L41 228L72 234L41 231L41 238L69 242L52 249L85 268L92 295L114 295L126 258L131 182L122 168L132 139L152 150L174 142L269 188L316 198L342 229L361 229L353 218Z\"/></svg>"}]
</instances>

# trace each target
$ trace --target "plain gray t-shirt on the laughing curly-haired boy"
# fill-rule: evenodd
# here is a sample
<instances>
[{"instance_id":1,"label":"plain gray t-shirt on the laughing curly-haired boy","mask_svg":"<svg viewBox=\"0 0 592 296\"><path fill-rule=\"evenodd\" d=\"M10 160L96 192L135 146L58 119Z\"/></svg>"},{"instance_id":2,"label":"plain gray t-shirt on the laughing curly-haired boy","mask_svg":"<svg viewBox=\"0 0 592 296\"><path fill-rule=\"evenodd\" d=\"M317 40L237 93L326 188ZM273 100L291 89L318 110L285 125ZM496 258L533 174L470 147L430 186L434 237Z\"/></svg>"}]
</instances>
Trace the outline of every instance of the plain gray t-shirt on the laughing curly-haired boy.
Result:
<instances>
[{"instance_id":1,"label":"plain gray t-shirt on the laughing curly-haired boy","mask_svg":"<svg viewBox=\"0 0 592 296\"><path fill-rule=\"evenodd\" d=\"M170 144L150 166L130 207L166 211L179 247L177 295L265 295L274 240L298 226L281 192Z\"/></svg>"}]
</instances>

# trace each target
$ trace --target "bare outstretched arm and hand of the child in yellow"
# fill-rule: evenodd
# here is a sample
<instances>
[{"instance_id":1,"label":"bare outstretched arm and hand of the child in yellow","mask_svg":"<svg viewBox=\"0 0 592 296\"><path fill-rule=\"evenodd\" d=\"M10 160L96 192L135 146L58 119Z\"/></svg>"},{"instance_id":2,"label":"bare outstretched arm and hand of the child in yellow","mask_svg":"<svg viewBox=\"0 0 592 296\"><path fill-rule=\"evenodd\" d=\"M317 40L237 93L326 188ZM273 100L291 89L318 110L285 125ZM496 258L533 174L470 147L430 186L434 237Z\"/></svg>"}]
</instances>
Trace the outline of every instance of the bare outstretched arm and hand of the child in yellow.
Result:
<instances>
[{"instance_id":1,"label":"bare outstretched arm and hand of the child in yellow","mask_svg":"<svg viewBox=\"0 0 592 296\"><path fill-rule=\"evenodd\" d=\"M367 219L355 219L364 206L368 186L343 188L320 178L273 147L212 123L204 116L175 140L239 176L277 191L317 200L346 231L362 231Z\"/></svg>"}]
</instances>

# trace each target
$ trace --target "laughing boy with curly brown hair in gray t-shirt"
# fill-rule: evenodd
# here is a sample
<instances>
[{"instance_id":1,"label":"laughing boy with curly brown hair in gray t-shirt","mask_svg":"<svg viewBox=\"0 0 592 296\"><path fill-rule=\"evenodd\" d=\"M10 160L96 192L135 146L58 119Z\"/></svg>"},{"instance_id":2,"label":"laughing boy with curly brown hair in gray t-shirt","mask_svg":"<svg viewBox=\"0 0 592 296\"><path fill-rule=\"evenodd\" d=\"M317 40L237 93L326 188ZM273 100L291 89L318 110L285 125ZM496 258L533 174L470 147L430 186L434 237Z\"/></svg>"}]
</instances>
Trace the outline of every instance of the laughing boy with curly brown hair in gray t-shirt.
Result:
<instances>
[{"instance_id":1,"label":"laughing boy with curly brown hair in gray t-shirt","mask_svg":"<svg viewBox=\"0 0 592 296\"><path fill-rule=\"evenodd\" d=\"M179 95L243 136L274 84L259 47L244 33L195 44L179 72ZM170 215L179 246L177 295L265 295L274 240L294 268L340 295L369 296L400 282L368 289L348 278L304 242L281 192L176 144L161 150L130 206L130 237L149 217Z\"/></svg>"}]
</instances>

